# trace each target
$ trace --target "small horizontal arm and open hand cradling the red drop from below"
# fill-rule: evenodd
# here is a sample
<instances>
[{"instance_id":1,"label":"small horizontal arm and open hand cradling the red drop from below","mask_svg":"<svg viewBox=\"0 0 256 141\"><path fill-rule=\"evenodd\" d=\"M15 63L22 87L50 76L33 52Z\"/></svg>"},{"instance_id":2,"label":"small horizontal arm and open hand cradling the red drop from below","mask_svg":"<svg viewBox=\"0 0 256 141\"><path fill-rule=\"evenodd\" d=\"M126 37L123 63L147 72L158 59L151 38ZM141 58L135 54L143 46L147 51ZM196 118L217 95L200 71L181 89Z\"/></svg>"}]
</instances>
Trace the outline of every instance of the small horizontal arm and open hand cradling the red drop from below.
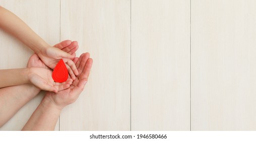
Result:
<instances>
[{"instance_id":1,"label":"small horizontal arm and open hand cradling the red drop from below","mask_svg":"<svg viewBox=\"0 0 256 141\"><path fill-rule=\"evenodd\" d=\"M56 83L52 79L52 70L42 67L28 67L0 70L0 88L31 83L37 88L57 93L69 88L73 80Z\"/></svg>"}]
</instances>

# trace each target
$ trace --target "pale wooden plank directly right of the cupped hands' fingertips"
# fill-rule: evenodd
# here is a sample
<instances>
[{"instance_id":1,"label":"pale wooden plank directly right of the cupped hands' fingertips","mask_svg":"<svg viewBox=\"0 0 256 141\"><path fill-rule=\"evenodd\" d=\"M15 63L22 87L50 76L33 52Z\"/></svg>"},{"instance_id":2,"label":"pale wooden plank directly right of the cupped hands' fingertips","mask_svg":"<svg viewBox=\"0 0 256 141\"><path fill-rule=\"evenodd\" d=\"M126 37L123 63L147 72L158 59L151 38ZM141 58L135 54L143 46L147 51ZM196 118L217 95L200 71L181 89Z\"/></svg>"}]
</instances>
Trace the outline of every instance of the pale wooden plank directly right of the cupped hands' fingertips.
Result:
<instances>
[{"instance_id":1,"label":"pale wooden plank directly right of the cupped hands' fingertips","mask_svg":"<svg viewBox=\"0 0 256 141\"><path fill-rule=\"evenodd\" d=\"M78 100L62 110L60 130L130 130L130 1L61 1L61 40L93 66Z\"/></svg>"}]
</instances>

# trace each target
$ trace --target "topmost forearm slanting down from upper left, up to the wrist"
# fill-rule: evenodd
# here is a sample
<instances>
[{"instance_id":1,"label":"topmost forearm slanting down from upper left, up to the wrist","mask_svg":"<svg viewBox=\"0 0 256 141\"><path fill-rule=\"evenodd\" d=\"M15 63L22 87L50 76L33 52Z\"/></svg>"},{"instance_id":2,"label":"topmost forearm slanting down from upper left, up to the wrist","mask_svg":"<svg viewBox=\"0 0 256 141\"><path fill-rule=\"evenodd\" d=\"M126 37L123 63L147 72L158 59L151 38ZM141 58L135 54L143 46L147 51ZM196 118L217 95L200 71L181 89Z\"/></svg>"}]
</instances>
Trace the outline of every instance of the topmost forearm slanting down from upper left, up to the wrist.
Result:
<instances>
[{"instance_id":1,"label":"topmost forearm slanting down from upper left, up to the wrist","mask_svg":"<svg viewBox=\"0 0 256 141\"><path fill-rule=\"evenodd\" d=\"M36 53L49 45L12 12L0 6L0 28L15 36Z\"/></svg>"}]
</instances>

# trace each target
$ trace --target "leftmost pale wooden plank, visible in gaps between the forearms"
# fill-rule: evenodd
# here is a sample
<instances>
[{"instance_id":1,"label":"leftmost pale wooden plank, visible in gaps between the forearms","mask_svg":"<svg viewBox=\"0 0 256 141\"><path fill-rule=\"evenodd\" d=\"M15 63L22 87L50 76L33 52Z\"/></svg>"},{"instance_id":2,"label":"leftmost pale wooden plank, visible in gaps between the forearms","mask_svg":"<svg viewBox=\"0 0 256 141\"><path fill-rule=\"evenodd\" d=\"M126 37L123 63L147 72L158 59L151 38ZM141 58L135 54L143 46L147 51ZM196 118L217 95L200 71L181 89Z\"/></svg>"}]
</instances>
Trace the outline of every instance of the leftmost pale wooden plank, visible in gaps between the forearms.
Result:
<instances>
[{"instance_id":1,"label":"leftmost pale wooden plank, visible in gaps between the forearms","mask_svg":"<svg viewBox=\"0 0 256 141\"><path fill-rule=\"evenodd\" d=\"M54 45L59 42L59 1L1 0L0 5L20 17L49 44ZM33 53L32 50L3 30L0 30L0 42L0 69L26 67ZM0 130L21 130L42 97L43 93L40 93L32 99ZM58 130L58 122L55 130Z\"/></svg>"}]
</instances>

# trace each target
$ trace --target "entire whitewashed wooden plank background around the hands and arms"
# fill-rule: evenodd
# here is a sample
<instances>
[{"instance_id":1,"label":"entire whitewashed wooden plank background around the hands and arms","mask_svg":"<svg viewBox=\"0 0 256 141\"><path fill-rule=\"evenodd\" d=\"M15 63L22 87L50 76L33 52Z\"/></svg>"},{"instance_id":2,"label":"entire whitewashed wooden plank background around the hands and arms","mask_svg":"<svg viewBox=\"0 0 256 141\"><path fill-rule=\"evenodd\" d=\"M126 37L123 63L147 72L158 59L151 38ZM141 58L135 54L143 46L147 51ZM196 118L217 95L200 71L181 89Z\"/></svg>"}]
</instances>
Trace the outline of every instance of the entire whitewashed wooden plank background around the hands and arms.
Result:
<instances>
[{"instance_id":1,"label":"entire whitewashed wooden plank background around the hands and arms","mask_svg":"<svg viewBox=\"0 0 256 141\"><path fill-rule=\"evenodd\" d=\"M0 0L51 45L94 59L55 130L256 130L256 1ZM1 14L1 13L0 13ZM0 68L33 53L0 31ZM22 92L21 92L22 94ZM20 130L43 92L0 130Z\"/></svg>"}]
</instances>

